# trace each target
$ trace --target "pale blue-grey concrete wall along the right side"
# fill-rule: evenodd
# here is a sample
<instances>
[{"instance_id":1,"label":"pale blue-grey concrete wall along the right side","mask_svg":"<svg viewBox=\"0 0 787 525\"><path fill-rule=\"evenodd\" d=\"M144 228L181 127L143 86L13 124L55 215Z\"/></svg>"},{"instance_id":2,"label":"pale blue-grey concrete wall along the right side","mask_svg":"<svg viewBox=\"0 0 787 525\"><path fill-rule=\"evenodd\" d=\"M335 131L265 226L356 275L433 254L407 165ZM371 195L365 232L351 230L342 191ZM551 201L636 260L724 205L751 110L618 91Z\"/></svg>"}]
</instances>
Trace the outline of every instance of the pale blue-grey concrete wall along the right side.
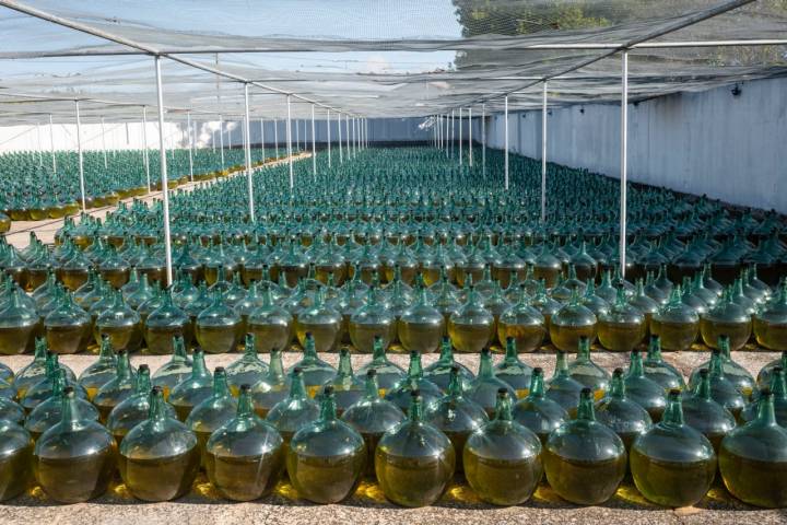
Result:
<instances>
[{"instance_id":1,"label":"pale blue-grey concrete wall along the right side","mask_svg":"<svg viewBox=\"0 0 787 525\"><path fill-rule=\"evenodd\" d=\"M787 79L740 88L630 105L629 179L787 213ZM541 159L541 112L508 120L510 149ZM486 126L502 148L503 116ZM620 105L552 109L547 139L550 162L620 177Z\"/></svg>"}]
</instances>

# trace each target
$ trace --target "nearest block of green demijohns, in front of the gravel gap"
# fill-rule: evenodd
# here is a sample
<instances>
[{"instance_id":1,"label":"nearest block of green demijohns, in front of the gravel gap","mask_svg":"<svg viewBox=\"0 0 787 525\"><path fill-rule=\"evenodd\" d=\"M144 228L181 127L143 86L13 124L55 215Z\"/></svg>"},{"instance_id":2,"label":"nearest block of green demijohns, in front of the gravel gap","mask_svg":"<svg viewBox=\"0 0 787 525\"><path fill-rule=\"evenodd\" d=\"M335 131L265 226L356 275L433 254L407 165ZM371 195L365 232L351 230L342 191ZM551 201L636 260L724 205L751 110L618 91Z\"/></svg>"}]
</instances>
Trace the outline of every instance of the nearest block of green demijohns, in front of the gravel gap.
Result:
<instances>
[{"instance_id":1,"label":"nearest block of green demijohns, in front of the gravel gap","mask_svg":"<svg viewBox=\"0 0 787 525\"><path fill-rule=\"evenodd\" d=\"M377 337L357 374L346 349L336 369L320 360L310 332L286 371L279 349L266 364L246 337L243 355L213 374L204 352L189 358L175 337L152 376L105 337L79 378L39 340L32 363L3 370L0 500L34 476L56 501L86 501L117 469L136 498L166 501L203 468L222 497L239 501L289 477L298 497L336 503L376 477L388 500L423 506L463 472L493 504L527 501L545 477L563 499L589 505L631 472L646 499L677 508L697 503L719 472L736 498L787 506L787 352L755 381L721 335L686 384L658 336L611 375L580 337L576 359L559 351L547 381L514 338L496 365L484 349L473 375L447 337L428 366L411 352L407 372Z\"/></svg>"}]
</instances>

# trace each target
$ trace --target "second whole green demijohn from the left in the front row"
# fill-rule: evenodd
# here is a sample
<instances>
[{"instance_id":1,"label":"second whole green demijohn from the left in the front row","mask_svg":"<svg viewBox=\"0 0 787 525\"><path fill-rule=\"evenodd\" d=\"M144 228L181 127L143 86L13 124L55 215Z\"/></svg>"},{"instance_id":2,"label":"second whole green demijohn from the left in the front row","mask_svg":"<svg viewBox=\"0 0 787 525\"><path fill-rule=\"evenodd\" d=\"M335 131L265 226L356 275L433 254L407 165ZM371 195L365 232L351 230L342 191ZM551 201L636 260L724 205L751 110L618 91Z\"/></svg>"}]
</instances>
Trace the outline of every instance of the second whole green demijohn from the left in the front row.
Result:
<instances>
[{"instance_id":1,"label":"second whole green demijohn from the left in the front row","mask_svg":"<svg viewBox=\"0 0 787 525\"><path fill-rule=\"evenodd\" d=\"M143 501L169 501L191 489L200 466L197 436L169 417L160 387L151 392L148 419L120 444L118 465L126 488Z\"/></svg>"}]
</instances>

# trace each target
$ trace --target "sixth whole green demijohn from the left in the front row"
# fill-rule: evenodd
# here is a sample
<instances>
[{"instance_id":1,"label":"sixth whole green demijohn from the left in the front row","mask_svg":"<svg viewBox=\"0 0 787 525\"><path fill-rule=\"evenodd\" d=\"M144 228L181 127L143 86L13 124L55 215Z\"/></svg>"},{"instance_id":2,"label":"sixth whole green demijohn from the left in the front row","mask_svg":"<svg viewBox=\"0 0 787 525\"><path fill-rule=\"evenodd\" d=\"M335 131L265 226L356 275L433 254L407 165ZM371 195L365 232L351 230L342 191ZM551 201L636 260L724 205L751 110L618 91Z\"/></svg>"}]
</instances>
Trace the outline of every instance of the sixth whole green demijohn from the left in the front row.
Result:
<instances>
[{"instance_id":1,"label":"sixth whole green demijohn from the left in the front row","mask_svg":"<svg viewBox=\"0 0 787 525\"><path fill-rule=\"evenodd\" d=\"M495 417L468 438L465 477L478 497L495 505L518 505L533 494L543 475L541 442L512 415L506 389L497 393Z\"/></svg>"}]
</instances>

